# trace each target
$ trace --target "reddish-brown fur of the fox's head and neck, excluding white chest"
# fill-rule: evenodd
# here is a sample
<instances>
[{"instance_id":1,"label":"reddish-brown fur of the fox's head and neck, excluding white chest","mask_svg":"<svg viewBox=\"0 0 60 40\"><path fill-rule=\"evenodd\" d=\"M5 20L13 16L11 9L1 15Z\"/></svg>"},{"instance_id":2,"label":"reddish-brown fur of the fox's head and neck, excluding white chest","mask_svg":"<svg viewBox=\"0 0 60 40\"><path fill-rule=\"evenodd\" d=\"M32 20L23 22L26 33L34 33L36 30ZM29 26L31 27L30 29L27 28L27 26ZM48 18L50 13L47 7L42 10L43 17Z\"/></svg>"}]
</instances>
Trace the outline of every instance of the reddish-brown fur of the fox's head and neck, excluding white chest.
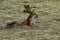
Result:
<instances>
[{"instance_id":1,"label":"reddish-brown fur of the fox's head and neck, excluding white chest","mask_svg":"<svg viewBox=\"0 0 60 40\"><path fill-rule=\"evenodd\" d=\"M38 15L32 11L31 7L29 7L29 5L24 5L25 9L29 11L29 16L27 18L26 21L22 22L22 25L27 25L27 26L31 26L31 18L32 16L36 15L36 17L38 17Z\"/></svg>"}]
</instances>

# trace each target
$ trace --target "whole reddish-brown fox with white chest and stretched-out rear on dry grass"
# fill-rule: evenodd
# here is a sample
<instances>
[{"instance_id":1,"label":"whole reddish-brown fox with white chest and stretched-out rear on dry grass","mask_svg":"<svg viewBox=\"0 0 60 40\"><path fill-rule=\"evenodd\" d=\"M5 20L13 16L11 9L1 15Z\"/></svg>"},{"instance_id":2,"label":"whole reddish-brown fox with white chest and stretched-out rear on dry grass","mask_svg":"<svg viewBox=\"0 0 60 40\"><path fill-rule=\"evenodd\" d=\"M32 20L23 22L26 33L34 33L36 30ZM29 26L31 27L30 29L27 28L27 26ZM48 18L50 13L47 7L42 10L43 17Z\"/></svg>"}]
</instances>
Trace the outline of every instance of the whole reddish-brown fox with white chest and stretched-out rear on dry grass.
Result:
<instances>
[{"instance_id":1,"label":"whole reddish-brown fox with white chest and stretched-out rear on dry grass","mask_svg":"<svg viewBox=\"0 0 60 40\"><path fill-rule=\"evenodd\" d=\"M5 26L2 26L2 28L0 29L2 30L6 28L14 28L16 26L22 26L22 25L24 26L35 25L35 18L38 18L38 15L34 11L32 11L32 8L29 5L24 5L24 8L29 13L29 16L27 17L25 21L23 21L22 23L19 23L17 21L8 22Z\"/></svg>"}]
</instances>

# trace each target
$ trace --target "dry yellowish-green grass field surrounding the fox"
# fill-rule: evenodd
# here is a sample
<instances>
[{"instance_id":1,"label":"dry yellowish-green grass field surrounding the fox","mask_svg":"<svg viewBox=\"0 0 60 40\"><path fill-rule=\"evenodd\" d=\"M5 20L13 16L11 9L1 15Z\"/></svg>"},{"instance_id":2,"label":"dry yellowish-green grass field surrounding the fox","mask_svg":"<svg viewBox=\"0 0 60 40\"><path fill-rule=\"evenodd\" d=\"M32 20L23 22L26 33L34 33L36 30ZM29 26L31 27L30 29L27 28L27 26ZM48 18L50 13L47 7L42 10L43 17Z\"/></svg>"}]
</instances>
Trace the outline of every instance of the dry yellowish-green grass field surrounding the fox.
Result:
<instances>
[{"instance_id":1,"label":"dry yellowish-green grass field surrounding the fox","mask_svg":"<svg viewBox=\"0 0 60 40\"><path fill-rule=\"evenodd\" d=\"M29 4L38 14L36 26L0 30L0 40L60 40L60 0L0 0L0 27L7 22L23 22Z\"/></svg>"}]
</instances>

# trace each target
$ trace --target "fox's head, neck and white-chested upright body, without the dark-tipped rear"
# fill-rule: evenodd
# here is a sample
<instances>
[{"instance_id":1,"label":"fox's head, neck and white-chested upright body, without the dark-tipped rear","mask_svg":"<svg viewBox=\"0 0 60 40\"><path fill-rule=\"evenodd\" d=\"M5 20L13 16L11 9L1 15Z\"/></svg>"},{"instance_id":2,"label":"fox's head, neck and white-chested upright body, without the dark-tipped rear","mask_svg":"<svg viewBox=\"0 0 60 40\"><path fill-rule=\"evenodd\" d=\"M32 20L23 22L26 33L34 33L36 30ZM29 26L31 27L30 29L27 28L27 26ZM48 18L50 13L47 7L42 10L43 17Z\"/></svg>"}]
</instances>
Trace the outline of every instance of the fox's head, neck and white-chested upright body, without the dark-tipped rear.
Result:
<instances>
[{"instance_id":1,"label":"fox's head, neck and white-chested upright body, without the dark-tipped rear","mask_svg":"<svg viewBox=\"0 0 60 40\"><path fill-rule=\"evenodd\" d=\"M27 25L27 26L32 26L35 24L35 18L38 18L38 15L34 11L32 11L32 8L29 5L24 5L24 7L28 11L29 16L21 24Z\"/></svg>"}]
</instances>

